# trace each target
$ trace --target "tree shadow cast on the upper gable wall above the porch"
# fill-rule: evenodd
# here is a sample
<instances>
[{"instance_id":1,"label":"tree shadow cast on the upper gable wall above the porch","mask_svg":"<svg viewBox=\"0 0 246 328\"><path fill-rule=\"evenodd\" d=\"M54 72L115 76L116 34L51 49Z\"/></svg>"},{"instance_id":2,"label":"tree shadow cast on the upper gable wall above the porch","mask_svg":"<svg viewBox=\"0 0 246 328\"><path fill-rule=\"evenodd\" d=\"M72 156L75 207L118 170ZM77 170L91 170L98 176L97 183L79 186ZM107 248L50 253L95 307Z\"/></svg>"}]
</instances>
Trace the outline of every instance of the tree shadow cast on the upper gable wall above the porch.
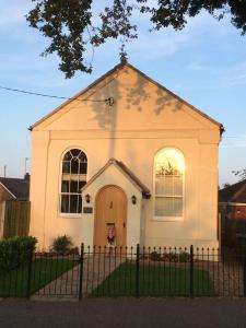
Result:
<instances>
[{"instance_id":1,"label":"tree shadow cast on the upper gable wall above the porch","mask_svg":"<svg viewBox=\"0 0 246 328\"><path fill-rule=\"evenodd\" d=\"M130 83L120 85L118 79L119 74L129 74ZM142 115L148 115L147 112L144 113L144 109L152 110L156 116L167 108L172 108L174 113L177 113L184 107L180 101L143 75L136 72L134 79L136 81L132 83L128 69L125 69L124 72L120 70L115 72L114 77L106 78L106 82L97 89L94 94L95 98L99 101L114 97L113 106L107 104L102 105L102 103L92 103L92 109L95 114L93 119L97 121L101 128L109 130L110 133L108 157L115 157L115 136L117 131L119 106L124 106L126 110L141 112ZM125 79L125 81L127 82L127 79Z\"/></svg>"}]
</instances>

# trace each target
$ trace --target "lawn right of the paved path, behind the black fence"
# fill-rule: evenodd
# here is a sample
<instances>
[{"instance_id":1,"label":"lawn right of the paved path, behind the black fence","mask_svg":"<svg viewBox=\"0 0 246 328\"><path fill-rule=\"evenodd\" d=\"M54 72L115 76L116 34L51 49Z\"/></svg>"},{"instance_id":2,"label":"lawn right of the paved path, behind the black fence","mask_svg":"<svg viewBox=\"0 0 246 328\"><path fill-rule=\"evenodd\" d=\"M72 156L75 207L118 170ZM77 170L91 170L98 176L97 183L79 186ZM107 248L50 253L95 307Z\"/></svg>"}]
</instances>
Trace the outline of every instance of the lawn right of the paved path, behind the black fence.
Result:
<instances>
[{"instance_id":1,"label":"lawn right of the paved path, behind the black fence","mask_svg":"<svg viewBox=\"0 0 246 328\"><path fill-rule=\"evenodd\" d=\"M189 296L190 269L178 266L140 265L140 296ZM136 263L121 263L91 296L134 296ZM194 270L194 296L213 295L213 285L206 270Z\"/></svg>"}]
</instances>

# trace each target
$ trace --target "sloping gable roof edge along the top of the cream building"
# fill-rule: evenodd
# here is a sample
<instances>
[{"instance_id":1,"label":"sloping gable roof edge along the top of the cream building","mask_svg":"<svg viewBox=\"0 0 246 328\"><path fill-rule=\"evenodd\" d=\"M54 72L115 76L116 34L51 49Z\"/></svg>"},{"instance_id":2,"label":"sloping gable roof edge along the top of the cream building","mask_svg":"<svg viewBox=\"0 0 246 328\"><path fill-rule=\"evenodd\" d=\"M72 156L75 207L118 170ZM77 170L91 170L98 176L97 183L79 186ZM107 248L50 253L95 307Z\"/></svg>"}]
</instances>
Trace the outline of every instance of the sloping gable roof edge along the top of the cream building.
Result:
<instances>
[{"instance_id":1,"label":"sloping gable roof edge along the top of the cream building","mask_svg":"<svg viewBox=\"0 0 246 328\"><path fill-rule=\"evenodd\" d=\"M144 79L147 79L148 81L150 81L151 83L155 84L157 87L162 89L163 91L169 93L173 97L175 97L177 101L181 102L183 104L187 105L189 108L191 108L194 112L198 113L199 115L203 116L204 118L207 118L208 120L210 120L211 122L213 122L214 125L219 126L221 134L224 132L224 127L222 124L218 122L216 120L214 120L213 118L211 118L210 116L208 116L207 114L202 113L201 110L197 109L196 107L194 107L192 105L190 105L188 102L186 102L185 99L180 98L179 96L177 96L176 94L174 94L172 91L169 91L168 89L166 89L165 86L163 86L162 84L160 84L159 82L154 81L153 79L151 79L150 77L148 77L147 74L144 74L142 71L140 71L139 69L137 69L136 67L133 67L132 65L130 65L127 61L122 61L118 65L116 65L112 70L109 70L108 72L106 72L105 74L103 74L101 78L98 78L97 80L95 80L93 83L91 83L87 87L85 87L84 90L82 90L81 92L77 93L74 96L72 96L71 98L69 98L68 101L66 101L65 103L62 103L60 106L58 106L55 110L52 110L51 113L49 113L48 115L46 115L45 117L43 117L42 119L39 119L38 121L36 121L34 125L32 125L30 127L30 130L32 131L33 128L37 127L39 124L42 124L43 121L45 121L47 118L49 118L50 116L52 116L55 113L59 112L62 107L65 107L66 105L68 105L69 103L71 103L72 101L77 99L78 97L81 97L83 94L85 94L90 89L92 89L93 86L95 86L96 84L98 84L99 82L102 82L104 79L106 79L107 77L112 75L113 73L115 73L118 70L124 69L125 67L128 67L130 69L132 69L133 71L136 71L137 73L139 73L140 75L142 75ZM105 99L106 101L106 99Z\"/></svg>"}]
</instances>

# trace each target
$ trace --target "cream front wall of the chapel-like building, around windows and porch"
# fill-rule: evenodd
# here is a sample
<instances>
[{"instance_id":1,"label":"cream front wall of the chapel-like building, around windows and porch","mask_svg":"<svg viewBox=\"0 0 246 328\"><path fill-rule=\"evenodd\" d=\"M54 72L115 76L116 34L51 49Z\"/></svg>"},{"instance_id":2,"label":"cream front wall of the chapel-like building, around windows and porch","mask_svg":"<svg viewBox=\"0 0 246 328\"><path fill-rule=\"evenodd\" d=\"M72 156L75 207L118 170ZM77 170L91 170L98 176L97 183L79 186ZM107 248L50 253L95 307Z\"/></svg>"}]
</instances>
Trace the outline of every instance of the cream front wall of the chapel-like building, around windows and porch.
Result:
<instances>
[{"instance_id":1,"label":"cream front wall of the chapel-like building, around windows and porch","mask_svg":"<svg viewBox=\"0 0 246 328\"><path fill-rule=\"evenodd\" d=\"M89 160L87 179L115 157L151 190L141 213L144 245L216 247L219 126L128 69L87 94L94 99L113 95L113 107L71 102L32 131L31 234L40 247L65 233L78 245L86 236L91 241L86 215L59 213L62 154L80 148ZM154 219L154 156L168 147L186 160L184 218L178 222Z\"/></svg>"}]
</instances>

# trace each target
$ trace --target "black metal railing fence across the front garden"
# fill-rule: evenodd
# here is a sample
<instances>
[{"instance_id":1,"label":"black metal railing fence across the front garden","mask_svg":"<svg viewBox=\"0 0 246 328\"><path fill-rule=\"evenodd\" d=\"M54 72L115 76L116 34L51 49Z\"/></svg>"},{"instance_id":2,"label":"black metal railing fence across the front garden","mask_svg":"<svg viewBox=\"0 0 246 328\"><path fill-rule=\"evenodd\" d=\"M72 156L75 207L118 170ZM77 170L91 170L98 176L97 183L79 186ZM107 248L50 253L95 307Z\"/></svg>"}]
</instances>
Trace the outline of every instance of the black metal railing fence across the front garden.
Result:
<instances>
[{"instance_id":1,"label":"black metal railing fence across the front garden","mask_svg":"<svg viewBox=\"0 0 246 328\"><path fill-rule=\"evenodd\" d=\"M84 247L30 251L0 271L0 297L246 296L246 260L219 249Z\"/></svg>"}]
</instances>

